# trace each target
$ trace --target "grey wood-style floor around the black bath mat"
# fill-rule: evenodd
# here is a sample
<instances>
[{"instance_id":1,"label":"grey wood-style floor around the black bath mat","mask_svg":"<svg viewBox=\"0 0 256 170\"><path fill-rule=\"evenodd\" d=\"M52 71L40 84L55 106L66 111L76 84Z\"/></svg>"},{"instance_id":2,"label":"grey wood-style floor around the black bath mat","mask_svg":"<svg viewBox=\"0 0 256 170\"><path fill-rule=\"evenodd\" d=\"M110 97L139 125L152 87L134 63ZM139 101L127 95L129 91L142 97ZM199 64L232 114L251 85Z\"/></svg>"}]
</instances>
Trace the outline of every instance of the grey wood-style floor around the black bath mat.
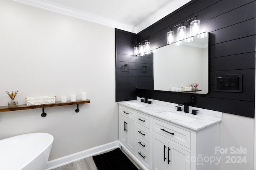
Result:
<instances>
[{"instance_id":1,"label":"grey wood-style floor around the black bath mat","mask_svg":"<svg viewBox=\"0 0 256 170\"><path fill-rule=\"evenodd\" d=\"M121 149L123 152L124 150ZM108 150L106 152L109 152L111 150ZM102 152L102 153L106 153L106 152ZM102 154L100 153L100 154ZM124 152L124 154L126 154L126 152ZM98 155L98 154L96 154ZM134 160L132 160L132 158L130 158L130 156L128 154L126 154L126 156L132 161L132 163L139 169L141 170L140 166L138 166L138 164L136 164L136 162L134 162ZM71 162L70 164L66 164L63 166L60 166L58 168L54 168L52 170L98 170L93 159L92 156L78 160L76 162Z\"/></svg>"}]
</instances>

